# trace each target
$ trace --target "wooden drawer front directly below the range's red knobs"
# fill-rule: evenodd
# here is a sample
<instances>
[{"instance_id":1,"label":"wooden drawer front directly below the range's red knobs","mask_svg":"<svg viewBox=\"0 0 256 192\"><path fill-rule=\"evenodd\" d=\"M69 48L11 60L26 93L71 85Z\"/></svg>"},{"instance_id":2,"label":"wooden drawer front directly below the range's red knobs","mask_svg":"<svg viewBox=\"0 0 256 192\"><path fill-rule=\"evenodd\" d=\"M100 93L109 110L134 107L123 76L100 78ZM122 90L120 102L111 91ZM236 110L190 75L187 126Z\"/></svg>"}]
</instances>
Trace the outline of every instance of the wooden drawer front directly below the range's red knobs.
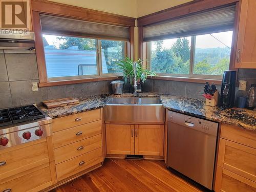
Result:
<instances>
[{"instance_id":1,"label":"wooden drawer front directly below the range's red knobs","mask_svg":"<svg viewBox=\"0 0 256 192\"><path fill-rule=\"evenodd\" d=\"M29 145L28 145L29 144ZM4 179L41 164L49 163L46 139L0 151L0 178Z\"/></svg>"}]
</instances>

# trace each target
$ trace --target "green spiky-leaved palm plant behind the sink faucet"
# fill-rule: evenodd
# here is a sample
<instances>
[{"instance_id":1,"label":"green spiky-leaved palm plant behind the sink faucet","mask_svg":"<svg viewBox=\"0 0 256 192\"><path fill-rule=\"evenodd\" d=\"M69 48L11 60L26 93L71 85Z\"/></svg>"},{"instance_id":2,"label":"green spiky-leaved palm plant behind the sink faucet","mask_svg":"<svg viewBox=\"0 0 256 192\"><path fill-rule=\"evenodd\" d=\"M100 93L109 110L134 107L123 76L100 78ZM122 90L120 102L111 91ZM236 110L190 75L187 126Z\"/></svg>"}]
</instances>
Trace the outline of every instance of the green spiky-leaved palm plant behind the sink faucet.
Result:
<instances>
[{"instance_id":1,"label":"green spiky-leaved palm plant behind the sink faucet","mask_svg":"<svg viewBox=\"0 0 256 192\"><path fill-rule=\"evenodd\" d=\"M139 58L137 61L134 61L133 59L130 59L129 57L125 57L123 60L119 60L117 62L117 65L119 69L123 71L123 80L124 83L127 83L130 81L130 84L133 84L134 82L134 62L137 62L137 83L139 84L140 81L145 83L147 76L155 76L156 74L150 70L146 69L146 66L142 65L142 60Z\"/></svg>"}]
</instances>

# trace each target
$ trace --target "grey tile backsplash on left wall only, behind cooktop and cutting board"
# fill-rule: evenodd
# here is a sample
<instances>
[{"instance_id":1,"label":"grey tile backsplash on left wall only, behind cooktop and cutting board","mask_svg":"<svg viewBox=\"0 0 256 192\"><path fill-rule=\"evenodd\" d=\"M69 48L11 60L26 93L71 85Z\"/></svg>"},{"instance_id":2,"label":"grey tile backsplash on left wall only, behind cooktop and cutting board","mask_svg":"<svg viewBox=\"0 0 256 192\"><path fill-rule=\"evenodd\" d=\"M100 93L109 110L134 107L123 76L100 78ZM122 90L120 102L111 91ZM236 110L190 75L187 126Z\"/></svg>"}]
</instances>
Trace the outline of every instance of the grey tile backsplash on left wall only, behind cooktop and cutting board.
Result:
<instances>
[{"instance_id":1,"label":"grey tile backsplash on left wall only, behind cooktop and cutting board","mask_svg":"<svg viewBox=\"0 0 256 192\"><path fill-rule=\"evenodd\" d=\"M32 82L38 81L35 51L0 50L0 108L111 92L110 81L44 87L32 92Z\"/></svg>"}]
</instances>

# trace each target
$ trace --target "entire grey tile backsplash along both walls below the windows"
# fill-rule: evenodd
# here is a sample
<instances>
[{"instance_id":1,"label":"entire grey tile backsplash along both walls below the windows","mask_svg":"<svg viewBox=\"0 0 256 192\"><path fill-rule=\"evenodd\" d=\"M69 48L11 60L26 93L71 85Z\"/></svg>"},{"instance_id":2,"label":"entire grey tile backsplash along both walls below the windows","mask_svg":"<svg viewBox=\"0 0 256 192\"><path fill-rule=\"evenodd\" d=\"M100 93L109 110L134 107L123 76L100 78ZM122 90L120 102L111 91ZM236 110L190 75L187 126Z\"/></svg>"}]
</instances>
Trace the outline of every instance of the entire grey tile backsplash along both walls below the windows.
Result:
<instances>
[{"instance_id":1,"label":"entire grey tile backsplash along both walls below the windows","mask_svg":"<svg viewBox=\"0 0 256 192\"><path fill-rule=\"evenodd\" d=\"M256 69L239 69L238 80L246 80L246 91L237 96L246 96L251 83L256 83ZM39 88L32 92L32 82L38 82L35 51L0 50L0 108L40 103L43 100L64 97L86 97L111 93L110 81L69 84ZM147 79L143 91L204 99L202 83ZM217 86L220 90L220 86ZM125 86L129 90L129 86Z\"/></svg>"}]
</instances>

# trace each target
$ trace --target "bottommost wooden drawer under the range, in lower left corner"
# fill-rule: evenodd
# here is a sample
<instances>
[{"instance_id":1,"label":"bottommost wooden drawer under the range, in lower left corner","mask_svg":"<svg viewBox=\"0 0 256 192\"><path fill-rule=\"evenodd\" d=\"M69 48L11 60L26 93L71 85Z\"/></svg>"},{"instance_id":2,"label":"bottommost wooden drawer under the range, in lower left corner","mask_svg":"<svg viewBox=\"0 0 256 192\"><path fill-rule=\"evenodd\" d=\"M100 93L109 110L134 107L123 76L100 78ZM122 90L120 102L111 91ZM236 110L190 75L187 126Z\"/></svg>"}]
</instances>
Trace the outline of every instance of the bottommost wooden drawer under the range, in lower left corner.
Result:
<instances>
[{"instance_id":1,"label":"bottommost wooden drawer under the range, in lower left corner","mask_svg":"<svg viewBox=\"0 0 256 192\"><path fill-rule=\"evenodd\" d=\"M39 191L52 185L49 164L33 173L16 178L0 185L0 191L11 189L11 192Z\"/></svg>"}]
</instances>

